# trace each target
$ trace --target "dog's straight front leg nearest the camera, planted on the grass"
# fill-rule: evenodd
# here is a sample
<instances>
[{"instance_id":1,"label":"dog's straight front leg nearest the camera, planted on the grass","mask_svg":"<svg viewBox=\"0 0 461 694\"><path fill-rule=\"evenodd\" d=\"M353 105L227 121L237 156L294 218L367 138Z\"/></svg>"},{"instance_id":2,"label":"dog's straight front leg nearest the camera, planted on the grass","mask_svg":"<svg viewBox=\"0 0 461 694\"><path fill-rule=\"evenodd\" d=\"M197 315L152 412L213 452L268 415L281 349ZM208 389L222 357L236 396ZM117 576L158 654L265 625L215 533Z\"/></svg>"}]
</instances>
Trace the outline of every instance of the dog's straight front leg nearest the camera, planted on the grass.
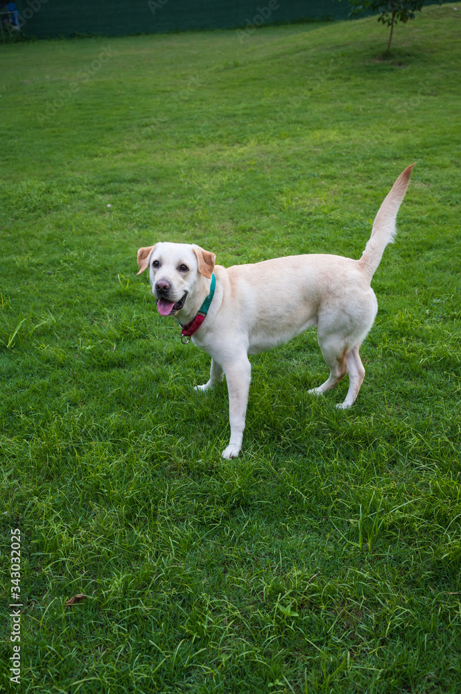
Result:
<instances>
[{"instance_id":1,"label":"dog's straight front leg nearest the camera, planted on the grass","mask_svg":"<svg viewBox=\"0 0 461 694\"><path fill-rule=\"evenodd\" d=\"M251 364L245 355L239 362L225 364L224 371L229 392L229 422L231 437L229 446L223 450L223 458L236 458L242 448L245 414L250 391Z\"/></svg>"}]
</instances>

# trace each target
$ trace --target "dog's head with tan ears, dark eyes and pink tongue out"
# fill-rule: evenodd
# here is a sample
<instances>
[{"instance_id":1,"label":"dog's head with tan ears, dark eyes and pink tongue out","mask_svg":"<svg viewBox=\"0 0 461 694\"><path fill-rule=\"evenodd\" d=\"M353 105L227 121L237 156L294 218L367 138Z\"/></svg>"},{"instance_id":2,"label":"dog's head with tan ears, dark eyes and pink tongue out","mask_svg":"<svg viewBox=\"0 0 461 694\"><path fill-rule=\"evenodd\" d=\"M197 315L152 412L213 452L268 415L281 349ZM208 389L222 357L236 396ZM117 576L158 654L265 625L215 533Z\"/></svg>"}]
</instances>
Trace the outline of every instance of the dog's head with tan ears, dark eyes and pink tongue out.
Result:
<instances>
[{"instance_id":1,"label":"dog's head with tan ears, dark eyes and pink tongue out","mask_svg":"<svg viewBox=\"0 0 461 694\"><path fill-rule=\"evenodd\" d=\"M216 255L200 246L159 243L139 248L138 265L141 274L149 269L150 284L162 316L175 316L185 307L195 309L194 295L205 289L204 279L211 278ZM201 301L200 301L201 303Z\"/></svg>"}]
</instances>

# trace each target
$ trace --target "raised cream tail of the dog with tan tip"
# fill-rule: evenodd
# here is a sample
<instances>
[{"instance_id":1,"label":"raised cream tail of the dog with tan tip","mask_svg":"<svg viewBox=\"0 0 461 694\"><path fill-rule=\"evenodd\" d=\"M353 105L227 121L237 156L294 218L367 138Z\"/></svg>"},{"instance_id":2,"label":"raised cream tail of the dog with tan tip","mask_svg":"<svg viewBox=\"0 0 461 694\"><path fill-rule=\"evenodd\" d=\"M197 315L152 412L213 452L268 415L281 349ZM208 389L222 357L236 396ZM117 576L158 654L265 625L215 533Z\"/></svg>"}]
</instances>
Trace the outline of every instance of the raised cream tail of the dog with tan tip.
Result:
<instances>
[{"instance_id":1,"label":"raised cream tail of the dog with tan tip","mask_svg":"<svg viewBox=\"0 0 461 694\"><path fill-rule=\"evenodd\" d=\"M374 271L381 262L385 247L394 241L394 236L397 232L395 228L397 212L399 212L401 201L405 197L406 189L410 182L411 170L414 166L415 164L410 164L400 174L374 219L372 235L369 237L365 251L363 251L363 255L358 261L360 269L367 274L369 280L372 279Z\"/></svg>"}]
</instances>

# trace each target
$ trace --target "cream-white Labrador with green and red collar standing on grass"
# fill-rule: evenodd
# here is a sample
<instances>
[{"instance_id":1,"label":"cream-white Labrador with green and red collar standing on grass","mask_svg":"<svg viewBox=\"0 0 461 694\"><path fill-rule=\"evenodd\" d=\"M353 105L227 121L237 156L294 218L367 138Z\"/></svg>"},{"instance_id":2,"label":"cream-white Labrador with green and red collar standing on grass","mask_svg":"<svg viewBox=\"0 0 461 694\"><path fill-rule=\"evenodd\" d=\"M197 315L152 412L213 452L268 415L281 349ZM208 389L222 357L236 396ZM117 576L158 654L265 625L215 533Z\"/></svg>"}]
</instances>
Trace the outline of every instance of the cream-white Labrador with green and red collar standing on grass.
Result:
<instances>
[{"instance_id":1,"label":"cream-white Labrador with green and red collar standing on grass","mask_svg":"<svg viewBox=\"0 0 461 694\"><path fill-rule=\"evenodd\" d=\"M225 268L200 246L139 248L138 274L149 268L159 314L175 316L186 340L211 356L209 381L197 389L212 388L226 376L231 436L223 457L234 458L241 450L250 389L248 355L283 344L312 325L317 325L330 375L309 392L334 388L349 371L349 390L338 407L351 407L356 400L365 377L358 350L378 310L370 281L394 238L413 166L397 178L381 205L360 260L292 255Z\"/></svg>"}]
</instances>

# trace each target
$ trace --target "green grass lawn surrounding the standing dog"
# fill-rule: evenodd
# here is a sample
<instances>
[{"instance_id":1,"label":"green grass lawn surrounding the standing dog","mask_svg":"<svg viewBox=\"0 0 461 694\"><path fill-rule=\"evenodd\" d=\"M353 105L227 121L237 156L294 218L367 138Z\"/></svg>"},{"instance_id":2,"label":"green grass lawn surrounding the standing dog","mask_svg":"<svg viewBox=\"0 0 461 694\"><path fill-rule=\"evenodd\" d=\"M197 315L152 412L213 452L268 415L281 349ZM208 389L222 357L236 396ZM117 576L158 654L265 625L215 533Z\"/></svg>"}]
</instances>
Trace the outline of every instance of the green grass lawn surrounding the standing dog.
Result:
<instances>
[{"instance_id":1,"label":"green grass lawn surrounding the standing dog","mask_svg":"<svg viewBox=\"0 0 461 694\"><path fill-rule=\"evenodd\" d=\"M15 691L461 691L458 10L390 60L376 18L0 46L1 691L15 528ZM306 393L307 332L252 357L223 460L137 248L360 257L414 161L356 405Z\"/></svg>"}]
</instances>

